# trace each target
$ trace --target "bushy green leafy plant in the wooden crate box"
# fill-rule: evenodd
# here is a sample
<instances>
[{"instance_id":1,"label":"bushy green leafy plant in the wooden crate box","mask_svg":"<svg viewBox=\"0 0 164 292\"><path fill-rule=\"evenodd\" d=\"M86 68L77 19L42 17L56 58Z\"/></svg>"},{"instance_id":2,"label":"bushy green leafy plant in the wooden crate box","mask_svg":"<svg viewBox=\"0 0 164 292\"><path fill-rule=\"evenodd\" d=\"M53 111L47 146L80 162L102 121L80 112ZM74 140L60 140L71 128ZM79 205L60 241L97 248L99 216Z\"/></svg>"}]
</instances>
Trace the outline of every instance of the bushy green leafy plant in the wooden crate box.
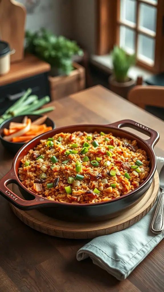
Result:
<instances>
[{"instance_id":1,"label":"bushy green leafy plant in the wooden crate box","mask_svg":"<svg viewBox=\"0 0 164 292\"><path fill-rule=\"evenodd\" d=\"M25 51L48 62L51 68L57 68L59 74L66 75L73 70L72 57L83 55L76 41L64 36L56 36L43 28L34 33L29 30L26 32Z\"/></svg>"}]
</instances>

